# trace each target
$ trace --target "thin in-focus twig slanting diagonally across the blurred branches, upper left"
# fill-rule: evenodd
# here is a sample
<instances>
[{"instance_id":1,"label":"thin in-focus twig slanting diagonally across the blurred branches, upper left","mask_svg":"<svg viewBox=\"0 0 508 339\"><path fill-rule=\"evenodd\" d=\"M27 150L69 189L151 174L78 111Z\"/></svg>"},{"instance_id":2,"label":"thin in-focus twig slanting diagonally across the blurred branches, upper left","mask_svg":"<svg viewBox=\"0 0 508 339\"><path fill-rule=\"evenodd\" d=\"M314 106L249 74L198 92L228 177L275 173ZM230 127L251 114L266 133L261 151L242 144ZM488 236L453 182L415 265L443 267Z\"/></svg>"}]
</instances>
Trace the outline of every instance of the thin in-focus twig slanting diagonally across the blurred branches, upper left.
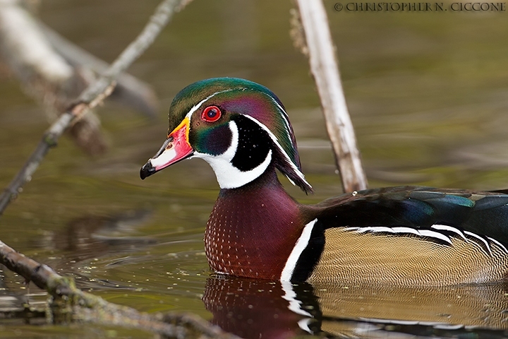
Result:
<instances>
[{"instance_id":1,"label":"thin in-focus twig slanting diagonally across the blurred branches, upper left","mask_svg":"<svg viewBox=\"0 0 508 339\"><path fill-rule=\"evenodd\" d=\"M8 204L18 196L21 187L26 182L30 181L35 170L39 167L40 162L49 151L49 148L56 145L62 133L71 126L73 121L80 119L88 109L95 107L99 102L102 102L105 97L111 94L111 90L114 87L114 79L145 52L162 28L169 22L175 11L179 11L183 4L186 3L188 3L186 0L162 1L150 18L150 21L145 25L143 32L123 50L120 56L97 81L91 83L83 93L81 93L78 98L78 104L67 109L66 112L61 114L59 119L49 127L44 133L44 136L42 136L42 140L37 145L37 148L35 148L35 151L20 169L20 172L16 174L13 181L0 195L0 215L4 213Z\"/></svg>"}]
</instances>

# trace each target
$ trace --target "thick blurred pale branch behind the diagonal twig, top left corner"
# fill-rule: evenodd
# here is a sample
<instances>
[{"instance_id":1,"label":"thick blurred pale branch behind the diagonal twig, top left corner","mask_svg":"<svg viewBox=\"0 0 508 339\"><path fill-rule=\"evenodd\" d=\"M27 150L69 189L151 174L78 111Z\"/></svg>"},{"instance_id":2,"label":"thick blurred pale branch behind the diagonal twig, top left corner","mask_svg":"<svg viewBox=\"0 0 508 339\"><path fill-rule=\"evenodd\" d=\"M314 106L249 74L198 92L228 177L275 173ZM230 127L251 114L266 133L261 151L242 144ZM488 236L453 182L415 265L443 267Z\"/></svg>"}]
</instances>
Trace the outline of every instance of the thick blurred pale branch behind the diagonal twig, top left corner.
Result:
<instances>
[{"instance_id":1,"label":"thick blurred pale branch behind the diagonal twig, top left corner","mask_svg":"<svg viewBox=\"0 0 508 339\"><path fill-rule=\"evenodd\" d=\"M25 93L42 103L54 121L95 77L69 65L49 44L37 20L20 0L0 0L0 52ZM70 131L85 152L103 153L107 143L95 114L74 124Z\"/></svg>"}]
</instances>

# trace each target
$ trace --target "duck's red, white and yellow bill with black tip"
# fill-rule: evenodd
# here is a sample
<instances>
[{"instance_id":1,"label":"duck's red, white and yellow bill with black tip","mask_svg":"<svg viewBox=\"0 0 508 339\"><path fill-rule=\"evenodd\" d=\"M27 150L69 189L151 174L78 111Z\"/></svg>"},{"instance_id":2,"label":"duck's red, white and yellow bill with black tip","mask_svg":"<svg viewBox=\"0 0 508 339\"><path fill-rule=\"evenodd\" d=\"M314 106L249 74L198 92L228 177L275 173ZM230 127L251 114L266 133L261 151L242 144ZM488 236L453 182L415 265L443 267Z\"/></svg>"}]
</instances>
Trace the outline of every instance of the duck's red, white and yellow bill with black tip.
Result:
<instances>
[{"instance_id":1,"label":"duck's red, white and yellow bill with black tip","mask_svg":"<svg viewBox=\"0 0 508 339\"><path fill-rule=\"evenodd\" d=\"M150 177L161 169L193 155L194 150L188 141L189 126L189 119L185 118L176 129L169 133L159 152L141 167L141 179Z\"/></svg>"}]
</instances>

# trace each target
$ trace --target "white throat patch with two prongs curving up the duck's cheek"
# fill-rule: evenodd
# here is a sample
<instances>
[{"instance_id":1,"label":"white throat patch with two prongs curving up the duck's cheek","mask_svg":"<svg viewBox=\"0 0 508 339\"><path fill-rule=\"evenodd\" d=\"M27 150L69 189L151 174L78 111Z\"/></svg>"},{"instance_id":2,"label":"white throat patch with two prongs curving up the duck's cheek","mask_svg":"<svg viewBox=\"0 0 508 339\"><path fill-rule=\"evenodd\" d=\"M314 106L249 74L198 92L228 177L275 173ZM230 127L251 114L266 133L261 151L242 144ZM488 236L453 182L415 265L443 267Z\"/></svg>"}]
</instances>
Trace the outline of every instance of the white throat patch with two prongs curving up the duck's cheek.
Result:
<instances>
[{"instance_id":1,"label":"white throat patch with two prongs curving up the duck's cheek","mask_svg":"<svg viewBox=\"0 0 508 339\"><path fill-rule=\"evenodd\" d=\"M234 121L229 121L228 126L231 130L231 145L226 152L220 155L195 152L194 156L200 157L210 164L221 189L236 189L252 182L265 172L272 162L272 150L268 151L267 157L258 167L242 172L231 164L231 160L236 154L236 148L238 148L238 126Z\"/></svg>"}]
</instances>

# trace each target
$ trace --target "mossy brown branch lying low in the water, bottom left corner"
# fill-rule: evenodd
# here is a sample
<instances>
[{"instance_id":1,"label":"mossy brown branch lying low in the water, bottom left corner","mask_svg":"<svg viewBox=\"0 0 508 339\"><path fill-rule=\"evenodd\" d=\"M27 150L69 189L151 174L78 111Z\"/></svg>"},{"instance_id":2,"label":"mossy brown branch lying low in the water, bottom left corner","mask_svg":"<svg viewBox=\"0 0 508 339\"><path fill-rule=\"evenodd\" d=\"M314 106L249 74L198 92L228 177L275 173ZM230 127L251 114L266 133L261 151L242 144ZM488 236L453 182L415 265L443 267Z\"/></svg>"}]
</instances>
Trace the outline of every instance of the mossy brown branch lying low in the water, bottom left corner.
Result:
<instances>
[{"instance_id":1,"label":"mossy brown branch lying low in the water, bottom left corner","mask_svg":"<svg viewBox=\"0 0 508 339\"><path fill-rule=\"evenodd\" d=\"M49 266L20 254L1 241L0 263L52 295L52 304L59 305L52 307L54 319L65 317L67 321L137 328L171 338L237 338L193 314L145 314L131 307L111 304L79 290L73 280L62 277Z\"/></svg>"}]
</instances>

